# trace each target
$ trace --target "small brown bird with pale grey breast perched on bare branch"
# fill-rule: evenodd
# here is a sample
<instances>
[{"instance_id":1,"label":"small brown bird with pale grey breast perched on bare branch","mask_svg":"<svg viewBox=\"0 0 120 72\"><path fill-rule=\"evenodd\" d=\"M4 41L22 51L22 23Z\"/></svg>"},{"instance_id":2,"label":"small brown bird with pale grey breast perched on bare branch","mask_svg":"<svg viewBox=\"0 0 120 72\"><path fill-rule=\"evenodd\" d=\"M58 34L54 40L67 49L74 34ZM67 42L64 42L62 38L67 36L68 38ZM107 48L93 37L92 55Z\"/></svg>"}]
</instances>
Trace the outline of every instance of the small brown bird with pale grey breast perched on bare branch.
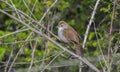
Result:
<instances>
[{"instance_id":1,"label":"small brown bird with pale grey breast perched on bare branch","mask_svg":"<svg viewBox=\"0 0 120 72\"><path fill-rule=\"evenodd\" d=\"M58 23L58 37L61 41L65 43L72 42L76 48L76 54L83 57L83 48L79 44L78 33L65 21L60 21Z\"/></svg>"}]
</instances>

